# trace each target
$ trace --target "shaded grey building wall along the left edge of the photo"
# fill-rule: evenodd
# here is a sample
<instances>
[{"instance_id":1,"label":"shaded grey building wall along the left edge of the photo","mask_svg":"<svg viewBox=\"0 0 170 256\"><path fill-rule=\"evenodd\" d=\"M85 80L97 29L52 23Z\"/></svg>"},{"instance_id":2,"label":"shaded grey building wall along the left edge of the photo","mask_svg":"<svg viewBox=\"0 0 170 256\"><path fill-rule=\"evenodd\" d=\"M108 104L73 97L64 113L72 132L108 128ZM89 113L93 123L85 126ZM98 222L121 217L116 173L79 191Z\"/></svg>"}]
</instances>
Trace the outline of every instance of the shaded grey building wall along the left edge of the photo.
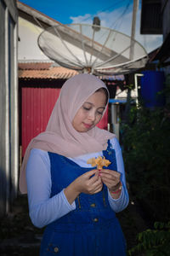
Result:
<instances>
[{"instance_id":1,"label":"shaded grey building wall along the left edge of the photo","mask_svg":"<svg viewBox=\"0 0 170 256\"><path fill-rule=\"evenodd\" d=\"M0 217L18 191L17 9L15 0L0 0Z\"/></svg>"}]
</instances>

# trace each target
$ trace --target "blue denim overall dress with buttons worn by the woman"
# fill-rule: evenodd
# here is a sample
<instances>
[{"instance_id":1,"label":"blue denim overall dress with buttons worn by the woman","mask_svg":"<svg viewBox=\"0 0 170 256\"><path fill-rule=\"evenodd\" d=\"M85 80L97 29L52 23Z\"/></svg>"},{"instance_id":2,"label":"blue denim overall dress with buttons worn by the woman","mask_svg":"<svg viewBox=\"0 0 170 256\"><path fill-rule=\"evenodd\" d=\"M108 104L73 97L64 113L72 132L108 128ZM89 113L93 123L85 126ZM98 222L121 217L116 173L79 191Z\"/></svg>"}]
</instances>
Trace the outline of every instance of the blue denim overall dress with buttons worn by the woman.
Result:
<instances>
[{"instance_id":1,"label":"blue denim overall dress with buttons worn by the woman","mask_svg":"<svg viewBox=\"0 0 170 256\"><path fill-rule=\"evenodd\" d=\"M115 150L108 142L103 151L111 161L109 168L116 169ZM48 153L51 163L51 197L66 188L72 181L94 168L78 166L65 156ZM41 256L124 256L126 243L121 226L111 209L107 188L95 195L81 194L76 209L48 224L42 238Z\"/></svg>"}]
</instances>

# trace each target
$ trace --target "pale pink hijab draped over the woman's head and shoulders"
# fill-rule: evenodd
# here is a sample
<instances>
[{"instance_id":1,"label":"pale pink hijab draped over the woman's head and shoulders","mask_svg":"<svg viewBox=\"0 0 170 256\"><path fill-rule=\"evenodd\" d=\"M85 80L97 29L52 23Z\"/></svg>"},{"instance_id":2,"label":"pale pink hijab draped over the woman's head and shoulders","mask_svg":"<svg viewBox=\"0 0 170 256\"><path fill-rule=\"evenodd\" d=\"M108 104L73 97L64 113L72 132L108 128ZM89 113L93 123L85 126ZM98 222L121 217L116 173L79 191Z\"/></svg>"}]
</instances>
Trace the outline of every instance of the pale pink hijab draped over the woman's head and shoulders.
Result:
<instances>
[{"instance_id":1,"label":"pale pink hijab draped over the woman's head and shoulders","mask_svg":"<svg viewBox=\"0 0 170 256\"><path fill-rule=\"evenodd\" d=\"M115 135L94 127L88 132L78 132L71 125L79 108L89 96L105 84L94 75L78 74L68 79L60 90L46 131L31 140L20 171L20 192L27 193L26 164L31 148L76 157L81 154L99 152L107 148L107 141ZM108 92L109 95L109 92Z\"/></svg>"}]
</instances>

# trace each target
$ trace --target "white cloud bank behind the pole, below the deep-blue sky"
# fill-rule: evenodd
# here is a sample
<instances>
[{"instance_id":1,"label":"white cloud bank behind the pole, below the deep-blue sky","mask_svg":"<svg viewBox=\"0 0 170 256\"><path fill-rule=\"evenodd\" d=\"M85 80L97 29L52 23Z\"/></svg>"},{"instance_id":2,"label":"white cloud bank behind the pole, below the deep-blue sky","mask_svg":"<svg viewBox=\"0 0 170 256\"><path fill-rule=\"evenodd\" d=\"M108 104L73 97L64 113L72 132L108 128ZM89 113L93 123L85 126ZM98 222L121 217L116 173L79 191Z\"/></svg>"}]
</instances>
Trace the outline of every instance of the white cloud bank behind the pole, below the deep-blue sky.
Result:
<instances>
[{"instance_id":1,"label":"white cloud bank behind the pole, below the deep-blue sky","mask_svg":"<svg viewBox=\"0 0 170 256\"><path fill-rule=\"evenodd\" d=\"M100 25L109 27L111 29L117 30L118 32L125 33L126 35L131 35L132 27L132 16L133 16L133 4L119 9L115 9L111 12L105 11L101 13L96 13L95 15L79 15L77 17L70 17L72 23L86 23L93 24L94 16L99 16ZM141 35L140 34L140 9L137 13L136 19L136 32L135 39L143 45L144 49L149 53L150 51L160 47L162 44L161 35Z\"/></svg>"}]
</instances>

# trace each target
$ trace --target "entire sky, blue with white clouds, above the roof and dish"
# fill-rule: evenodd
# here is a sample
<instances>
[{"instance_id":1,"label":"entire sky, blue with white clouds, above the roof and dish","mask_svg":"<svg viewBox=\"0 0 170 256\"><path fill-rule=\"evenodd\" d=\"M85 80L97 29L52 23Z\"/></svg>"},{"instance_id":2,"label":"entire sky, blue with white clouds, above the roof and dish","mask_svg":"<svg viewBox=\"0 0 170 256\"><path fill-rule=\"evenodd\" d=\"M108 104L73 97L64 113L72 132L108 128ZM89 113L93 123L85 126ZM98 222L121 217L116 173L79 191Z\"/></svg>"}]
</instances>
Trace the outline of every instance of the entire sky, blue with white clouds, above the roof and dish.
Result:
<instances>
[{"instance_id":1,"label":"entire sky, blue with white clouds, above the roof and dish","mask_svg":"<svg viewBox=\"0 0 170 256\"><path fill-rule=\"evenodd\" d=\"M20 2L63 24L93 24L94 16L98 16L100 26L131 35L133 0L20 0ZM150 53L161 46L162 36L140 34L140 12L141 0L139 0L135 39Z\"/></svg>"}]
</instances>

